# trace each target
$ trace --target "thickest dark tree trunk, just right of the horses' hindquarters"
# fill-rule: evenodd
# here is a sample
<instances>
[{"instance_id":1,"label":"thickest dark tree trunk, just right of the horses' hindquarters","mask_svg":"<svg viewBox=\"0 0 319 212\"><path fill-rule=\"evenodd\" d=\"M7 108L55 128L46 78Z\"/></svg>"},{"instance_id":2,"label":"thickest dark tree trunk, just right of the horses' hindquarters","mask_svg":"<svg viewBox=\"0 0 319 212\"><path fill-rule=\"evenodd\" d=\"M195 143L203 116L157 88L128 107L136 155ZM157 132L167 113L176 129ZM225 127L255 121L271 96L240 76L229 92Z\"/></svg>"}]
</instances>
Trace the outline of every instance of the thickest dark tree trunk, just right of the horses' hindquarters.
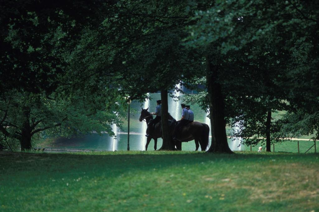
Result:
<instances>
[{"instance_id":1,"label":"thickest dark tree trunk, just right of the horses' hindquarters","mask_svg":"<svg viewBox=\"0 0 319 212\"><path fill-rule=\"evenodd\" d=\"M218 79L218 66L211 64L209 57L206 57L206 82L209 96L209 112L211 120L211 146L207 152L233 153L227 142L225 104Z\"/></svg>"}]
</instances>

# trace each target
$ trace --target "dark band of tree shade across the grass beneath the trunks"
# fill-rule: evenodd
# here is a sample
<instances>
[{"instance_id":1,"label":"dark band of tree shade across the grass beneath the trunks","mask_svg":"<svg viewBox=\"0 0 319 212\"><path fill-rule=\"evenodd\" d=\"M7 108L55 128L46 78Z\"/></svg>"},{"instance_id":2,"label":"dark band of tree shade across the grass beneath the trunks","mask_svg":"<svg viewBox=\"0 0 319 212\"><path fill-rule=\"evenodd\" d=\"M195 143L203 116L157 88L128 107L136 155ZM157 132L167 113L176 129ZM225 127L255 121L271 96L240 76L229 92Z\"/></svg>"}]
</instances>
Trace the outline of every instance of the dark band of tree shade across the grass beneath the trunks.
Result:
<instances>
[{"instance_id":1,"label":"dark band of tree shade across the grass beneath the trunks","mask_svg":"<svg viewBox=\"0 0 319 212\"><path fill-rule=\"evenodd\" d=\"M0 153L2 175L25 171L39 175L86 172L118 175L129 171L148 171L154 168L189 166L213 162L222 165L259 163L261 161L307 162L318 154L296 153L236 153L202 152L91 152L91 153ZM315 160L318 161L318 160ZM20 173L21 174L21 173ZM1 174L0 174L1 177Z\"/></svg>"}]
</instances>

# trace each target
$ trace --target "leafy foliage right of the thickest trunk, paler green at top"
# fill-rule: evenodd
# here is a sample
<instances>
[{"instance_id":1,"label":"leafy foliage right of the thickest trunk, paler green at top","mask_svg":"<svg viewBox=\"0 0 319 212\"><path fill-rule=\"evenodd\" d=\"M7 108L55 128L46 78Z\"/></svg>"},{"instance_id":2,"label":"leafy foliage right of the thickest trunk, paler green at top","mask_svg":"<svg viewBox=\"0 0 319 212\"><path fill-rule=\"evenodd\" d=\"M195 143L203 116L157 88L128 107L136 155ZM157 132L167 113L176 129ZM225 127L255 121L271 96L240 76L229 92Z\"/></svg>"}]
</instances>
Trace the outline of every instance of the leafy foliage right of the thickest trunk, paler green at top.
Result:
<instances>
[{"instance_id":1,"label":"leafy foliage right of the thickest trunk, paler green at top","mask_svg":"<svg viewBox=\"0 0 319 212\"><path fill-rule=\"evenodd\" d=\"M299 1L216 1L189 18L184 44L202 49L218 64L225 118L240 125L241 133L235 134L246 143L265 137L269 108L291 113L294 107L303 108L312 116L309 124L272 123L272 139L291 134L291 126L293 131L304 126L302 135L318 128L312 121L318 108L317 6ZM310 108L309 101L314 104Z\"/></svg>"}]
</instances>

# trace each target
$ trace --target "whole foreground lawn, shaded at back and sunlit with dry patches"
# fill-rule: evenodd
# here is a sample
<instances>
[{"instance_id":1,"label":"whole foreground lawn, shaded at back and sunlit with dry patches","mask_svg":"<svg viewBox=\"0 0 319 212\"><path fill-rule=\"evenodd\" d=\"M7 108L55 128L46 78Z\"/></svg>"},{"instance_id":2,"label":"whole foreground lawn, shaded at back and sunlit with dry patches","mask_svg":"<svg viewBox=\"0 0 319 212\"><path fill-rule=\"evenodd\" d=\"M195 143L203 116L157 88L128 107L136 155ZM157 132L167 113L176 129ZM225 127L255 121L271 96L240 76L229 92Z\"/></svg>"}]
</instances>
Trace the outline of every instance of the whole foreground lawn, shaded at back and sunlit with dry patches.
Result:
<instances>
[{"instance_id":1,"label":"whole foreground lawn, shaded at back and sunlit with dry patches","mask_svg":"<svg viewBox=\"0 0 319 212\"><path fill-rule=\"evenodd\" d=\"M319 155L0 152L0 211L319 211Z\"/></svg>"}]
</instances>

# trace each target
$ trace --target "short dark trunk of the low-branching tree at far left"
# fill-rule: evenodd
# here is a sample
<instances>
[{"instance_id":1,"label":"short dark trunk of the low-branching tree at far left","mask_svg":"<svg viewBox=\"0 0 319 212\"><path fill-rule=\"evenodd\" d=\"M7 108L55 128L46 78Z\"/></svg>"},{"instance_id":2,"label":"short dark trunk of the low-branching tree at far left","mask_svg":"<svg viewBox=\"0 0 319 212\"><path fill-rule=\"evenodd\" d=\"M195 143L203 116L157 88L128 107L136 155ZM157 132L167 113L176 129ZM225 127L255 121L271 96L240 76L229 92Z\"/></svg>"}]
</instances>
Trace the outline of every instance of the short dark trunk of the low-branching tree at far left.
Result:
<instances>
[{"instance_id":1,"label":"short dark trunk of the low-branching tree at far left","mask_svg":"<svg viewBox=\"0 0 319 212\"><path fill-rule=\"evenodd\" d=\"M23 108L23 127L21 130L21 151L30 150L31 149L31 126L30 126L30 108Z\"/></svg>"}]
</instances>

